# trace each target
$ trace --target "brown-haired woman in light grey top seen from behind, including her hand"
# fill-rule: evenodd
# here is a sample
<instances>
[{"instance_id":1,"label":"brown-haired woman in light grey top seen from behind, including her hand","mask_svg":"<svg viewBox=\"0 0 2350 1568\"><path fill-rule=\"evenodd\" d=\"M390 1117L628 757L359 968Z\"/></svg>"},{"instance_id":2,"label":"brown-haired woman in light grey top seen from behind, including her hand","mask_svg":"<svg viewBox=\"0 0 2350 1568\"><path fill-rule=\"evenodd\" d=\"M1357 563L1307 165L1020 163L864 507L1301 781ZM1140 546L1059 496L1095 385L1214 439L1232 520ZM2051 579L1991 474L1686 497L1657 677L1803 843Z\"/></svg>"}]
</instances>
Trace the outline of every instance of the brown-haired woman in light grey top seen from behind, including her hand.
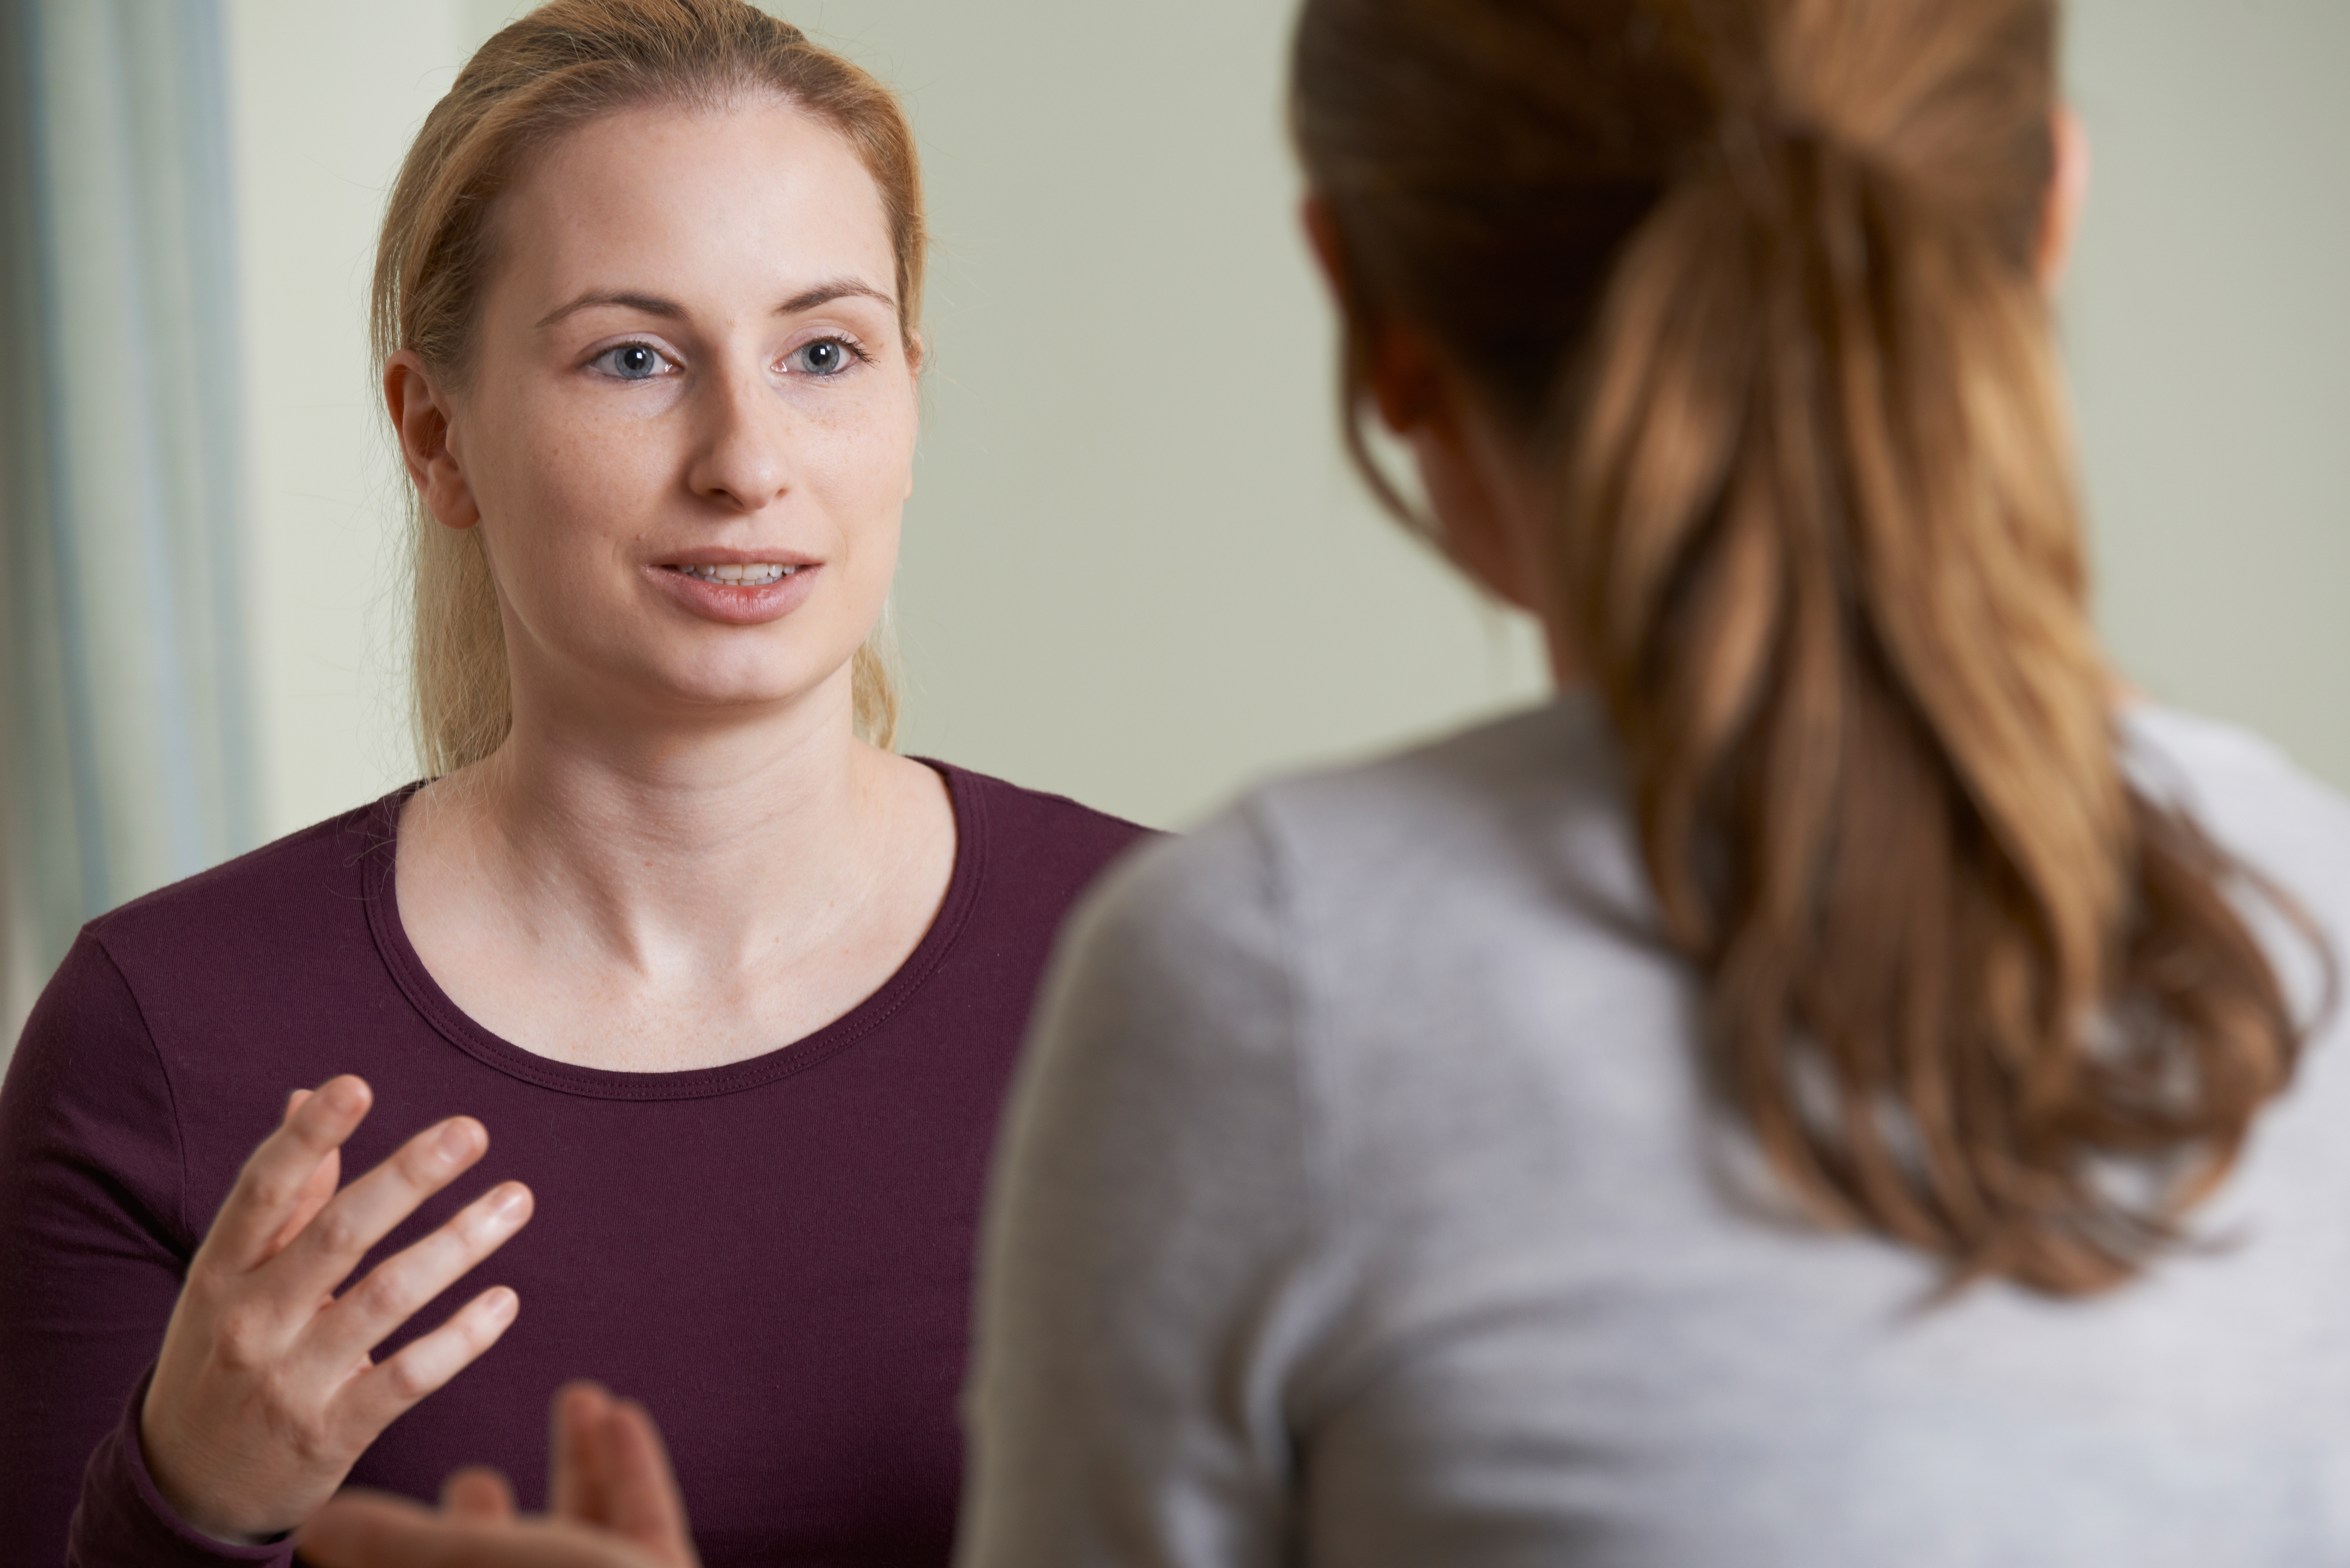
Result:
<instances>
[{"instance_id":1,"label":"brown-haired woman in light grey top seen from behind, including her hand","mask_svg":"<svg viewBox=\"0 0 2350 1568\"><path fill-rule=\"evenodd\" d=\"M2350 1556L2350 809L2096 651L2056 38L1307 0L1347 407L1565 693L1076 922L959 1561ZM306 1549L682 1561L578 1401L625 1540L472 1479Z\"/></svg>"}]
</instances>

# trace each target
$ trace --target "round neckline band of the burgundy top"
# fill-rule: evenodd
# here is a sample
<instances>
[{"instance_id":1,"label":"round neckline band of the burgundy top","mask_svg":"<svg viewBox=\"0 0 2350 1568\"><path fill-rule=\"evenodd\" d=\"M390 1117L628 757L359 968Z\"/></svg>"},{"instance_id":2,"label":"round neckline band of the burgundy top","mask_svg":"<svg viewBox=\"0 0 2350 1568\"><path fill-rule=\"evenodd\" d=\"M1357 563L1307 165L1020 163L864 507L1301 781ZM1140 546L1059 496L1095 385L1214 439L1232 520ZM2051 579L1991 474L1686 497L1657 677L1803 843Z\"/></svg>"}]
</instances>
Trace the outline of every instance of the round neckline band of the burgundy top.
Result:
<instances>
[{"instance_id":1,"label":"round neckline band of the burgundy top","mask_svg":"<svg viewBox=\"0 0 2350 1568\"><path fill-rule=\"evenodd\" d=\"M978 780L971 771L931 757L912 762L921 762L947 780L947 802L954 811L954 870L947 875L947 896L938 903L931 926L914 943L905 964L853 1009L811 1034L724 1067L689 1067L686 1072L576 1067L524 1051L475 1023L416 954L407 926L400 924L400 898L392 891L392 867L400 858L400 809L423 788L423 780L392 790L369 811L371 830L360 863L360 903L367 905L367 926L376 938L376 952L400 992L437 1034L486 1067L538 1088L595 1100L700 1100L759 1088L832 1060L888 1023L938 973L971 919L980 877L987 870L987 809L975 788Z\"/></svg>"}]
</instances>

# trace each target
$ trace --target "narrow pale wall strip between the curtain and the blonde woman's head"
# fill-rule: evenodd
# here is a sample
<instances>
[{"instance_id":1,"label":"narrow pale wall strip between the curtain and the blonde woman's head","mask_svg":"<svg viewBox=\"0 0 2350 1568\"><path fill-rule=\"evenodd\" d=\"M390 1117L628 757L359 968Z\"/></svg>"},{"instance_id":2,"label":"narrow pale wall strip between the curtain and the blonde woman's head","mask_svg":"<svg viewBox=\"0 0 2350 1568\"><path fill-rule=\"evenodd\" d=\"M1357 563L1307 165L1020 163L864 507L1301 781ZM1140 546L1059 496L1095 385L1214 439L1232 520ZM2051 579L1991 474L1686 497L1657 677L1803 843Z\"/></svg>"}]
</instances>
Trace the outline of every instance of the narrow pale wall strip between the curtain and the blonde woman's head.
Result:
<instances>
[{"instance_id":1,"label":"narrow pale wall strip between the curtain and the blonde woman's head","mask_svg":"<svg viewBox=\"0 0 2350 1568\"><path fill-rule=\"evenodd\" d=\"M456 78L456 0L228 0L263 837L409 778L397 491L367 376L383 193Z\"/></svg>"}]
</instances>

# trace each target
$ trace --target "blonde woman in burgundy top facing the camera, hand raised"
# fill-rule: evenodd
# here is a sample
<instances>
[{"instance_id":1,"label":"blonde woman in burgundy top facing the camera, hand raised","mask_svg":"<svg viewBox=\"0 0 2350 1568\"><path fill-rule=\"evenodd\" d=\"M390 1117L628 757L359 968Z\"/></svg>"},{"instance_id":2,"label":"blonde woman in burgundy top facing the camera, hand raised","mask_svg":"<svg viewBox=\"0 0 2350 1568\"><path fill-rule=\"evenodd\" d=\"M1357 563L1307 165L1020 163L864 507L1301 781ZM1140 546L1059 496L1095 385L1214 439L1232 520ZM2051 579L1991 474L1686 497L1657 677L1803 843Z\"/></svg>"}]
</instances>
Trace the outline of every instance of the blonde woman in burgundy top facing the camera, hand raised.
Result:
<instances>
[{"instance_id":1,"label":"blonde woman in burgundy top facing the camera, hand raised","mask_svg":"<svg viewBox=\"0 0 2350 1568\"><path fill-rule=\"evenodd\" d=\"M12 1561L287 1561L345 1479L524 1469L576 1375L712 1561L945 1561L996 1110L1137 830L888 750L921 273L898 103L743 0L557 0L425 120L374 329L430 783L35 1009Z\"/></svg>"}]
</instances>

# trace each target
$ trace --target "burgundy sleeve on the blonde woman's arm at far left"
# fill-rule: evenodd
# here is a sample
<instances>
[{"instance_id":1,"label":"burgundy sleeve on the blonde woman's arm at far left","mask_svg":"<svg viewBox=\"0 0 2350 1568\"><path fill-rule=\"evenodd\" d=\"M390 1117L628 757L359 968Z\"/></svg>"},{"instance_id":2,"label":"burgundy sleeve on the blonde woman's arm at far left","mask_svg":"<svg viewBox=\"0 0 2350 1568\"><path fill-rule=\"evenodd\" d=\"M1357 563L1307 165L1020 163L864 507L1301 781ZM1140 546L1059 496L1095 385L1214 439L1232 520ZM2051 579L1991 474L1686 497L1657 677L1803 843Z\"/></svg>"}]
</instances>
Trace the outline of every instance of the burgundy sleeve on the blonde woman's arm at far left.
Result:
<instances>
[{"instance_id":1,"label":"burgundy sleeve on the blonde woman's arm at far left","mask_svg":"<svg viewBox=\"0 0 2350 1568\"><path fill-rule=\"evenodd\" d=\"M82 933L0 1086L0 1542L14 1561L291 1556L195 1535L141 1465L132 1408L193 1251L183 1199L172 1084L139 999Z\"/></svg>"}]
</instances>

